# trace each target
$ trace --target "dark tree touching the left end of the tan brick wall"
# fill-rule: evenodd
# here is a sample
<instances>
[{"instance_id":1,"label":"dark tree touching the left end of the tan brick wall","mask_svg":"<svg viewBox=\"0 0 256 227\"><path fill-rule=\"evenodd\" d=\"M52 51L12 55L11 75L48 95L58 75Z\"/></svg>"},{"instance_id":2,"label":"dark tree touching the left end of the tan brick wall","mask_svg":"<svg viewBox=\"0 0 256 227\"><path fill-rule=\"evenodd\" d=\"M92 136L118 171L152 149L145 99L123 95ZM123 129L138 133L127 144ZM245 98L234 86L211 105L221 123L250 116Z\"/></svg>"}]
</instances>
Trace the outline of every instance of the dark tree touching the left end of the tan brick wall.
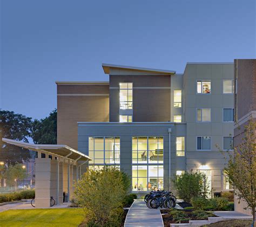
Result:
<instances>
[{"instance_id":1,"label":"dark tree touching the left end of the tan brick wall","mask_svg":"<svg viewBox=\"0 0 256 227\"><path fill-rule=\"evenodd\" d=\"M36 144L57 144L57 109L41 120L34 120L31 137Z\"/></svg>"}]
</instances>

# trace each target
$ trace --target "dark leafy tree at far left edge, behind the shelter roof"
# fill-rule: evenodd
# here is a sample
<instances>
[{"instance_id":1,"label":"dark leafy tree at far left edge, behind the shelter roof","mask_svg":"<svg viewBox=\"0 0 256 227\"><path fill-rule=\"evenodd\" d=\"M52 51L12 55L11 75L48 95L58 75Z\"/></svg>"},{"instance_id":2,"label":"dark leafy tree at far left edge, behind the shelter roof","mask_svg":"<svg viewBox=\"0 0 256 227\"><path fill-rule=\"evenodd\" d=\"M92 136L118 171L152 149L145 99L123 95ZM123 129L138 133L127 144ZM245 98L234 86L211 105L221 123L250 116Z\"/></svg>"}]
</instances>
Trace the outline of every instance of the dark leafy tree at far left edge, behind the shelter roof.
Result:
<instances>
[{"instance_id":1,"label":"dark leafy tree at far left edge, behind the shelter roof","mask_svg":"<svg viewBox=\"0 0 256 227\"><path fill-rule=\"evenodd\" d=\"M12 111L0 110L0 161L16 163L29 158L28 149L3 143L2 138L29 142L30 128L31 118Z\"/></svg>"}]
</instances>

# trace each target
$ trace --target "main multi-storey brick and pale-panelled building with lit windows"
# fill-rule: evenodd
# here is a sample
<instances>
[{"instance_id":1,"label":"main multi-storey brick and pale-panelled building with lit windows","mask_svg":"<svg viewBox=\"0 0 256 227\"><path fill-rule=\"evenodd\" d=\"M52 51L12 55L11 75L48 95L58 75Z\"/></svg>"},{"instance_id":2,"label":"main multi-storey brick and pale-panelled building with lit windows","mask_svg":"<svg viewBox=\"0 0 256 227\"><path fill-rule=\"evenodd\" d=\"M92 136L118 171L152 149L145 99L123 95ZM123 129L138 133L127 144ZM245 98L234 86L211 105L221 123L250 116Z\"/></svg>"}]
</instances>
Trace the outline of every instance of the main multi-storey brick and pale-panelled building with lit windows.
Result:
<instances>
[{"instance_id":1,"label":"main multi-storey brick and pale-panelled building with lit windows","mask_svg":"<svg viewBox=\"0 0 256 227\"><path fill-rule=\"evenodd\" d=\"M219 149L233 140L233 63L187 63L183 74L102 67L107 81L56 82L58 144L89 155L90 168L119 167L133 191L170 189L191 169L214 192L230 189Z\"/></svg>"}]
</instances>

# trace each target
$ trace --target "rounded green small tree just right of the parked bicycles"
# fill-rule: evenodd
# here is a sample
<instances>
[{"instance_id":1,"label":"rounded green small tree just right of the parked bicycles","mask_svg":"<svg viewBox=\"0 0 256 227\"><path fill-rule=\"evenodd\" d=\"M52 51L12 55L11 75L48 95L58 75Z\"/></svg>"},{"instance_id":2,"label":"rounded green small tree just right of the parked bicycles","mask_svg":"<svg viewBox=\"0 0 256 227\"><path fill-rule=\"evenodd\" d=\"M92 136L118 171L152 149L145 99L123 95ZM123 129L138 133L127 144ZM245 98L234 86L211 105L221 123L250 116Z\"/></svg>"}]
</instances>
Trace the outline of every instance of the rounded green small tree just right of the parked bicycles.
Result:
<instances>
[{"instance_id":1,"label":"rounded green small tree just right of the parked bicycles","mask_svg":"<svg viewBox=\"0 0 256 227\"><path fill-rule=\"evenodd\" d=\"M206 175L199 172L193 173L192 170L174 177L172 182L179 198L185 202L191 202L191 199L195 197L206 198L209 192Z\"/></svg>"}]
</instances>

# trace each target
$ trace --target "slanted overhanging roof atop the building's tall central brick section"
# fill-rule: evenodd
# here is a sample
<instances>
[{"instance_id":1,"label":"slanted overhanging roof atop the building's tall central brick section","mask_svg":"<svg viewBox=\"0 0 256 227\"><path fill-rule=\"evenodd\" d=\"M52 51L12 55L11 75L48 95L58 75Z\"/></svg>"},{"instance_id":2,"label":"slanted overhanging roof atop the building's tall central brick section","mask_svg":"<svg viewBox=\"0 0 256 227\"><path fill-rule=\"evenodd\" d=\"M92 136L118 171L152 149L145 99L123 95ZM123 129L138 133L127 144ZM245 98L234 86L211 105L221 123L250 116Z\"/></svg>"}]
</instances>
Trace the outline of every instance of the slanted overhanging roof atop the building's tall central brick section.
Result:
<instances>
[{"instance_id":1,"label":"slanted overhanging roof atop the building's tall central brick section","mask_svg":"<svg viewBox=\"0 0 256 227\"><path fill-rule=\"evenodd\" d=\"M143 68L143 67L134 67L134 66L125 66L125 65L113 65L113 64L102 64L105 74L110 73L110 68L124 68L126 70L138 70L138 71L148 71L148 72L159 72L164 74L175 74L176 71L172 70L158 70L156 68Z\"/></svg>"}]
</instances>

